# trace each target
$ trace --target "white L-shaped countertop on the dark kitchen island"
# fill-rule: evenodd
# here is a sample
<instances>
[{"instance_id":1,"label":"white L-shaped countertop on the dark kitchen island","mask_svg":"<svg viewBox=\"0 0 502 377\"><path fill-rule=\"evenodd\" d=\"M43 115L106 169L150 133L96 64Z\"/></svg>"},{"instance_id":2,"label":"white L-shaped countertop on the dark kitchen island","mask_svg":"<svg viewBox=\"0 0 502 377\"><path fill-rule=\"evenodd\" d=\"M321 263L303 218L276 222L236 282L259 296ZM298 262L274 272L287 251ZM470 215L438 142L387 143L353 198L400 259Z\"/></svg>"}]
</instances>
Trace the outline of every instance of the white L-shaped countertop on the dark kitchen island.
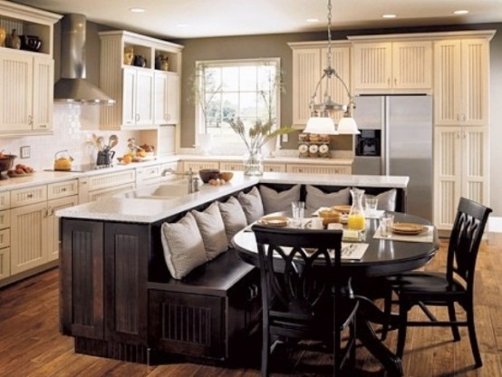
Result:
<instances>
[{"instance_id":1,"label":"white L-shaped countertop on the dark kitchen island","mask_svg":"<svg viewBox=\"0 0 502 377\"><path fill-rule=\"evenodd\" d=\"M200 185L200 190L178 198L101 198L97 201L71 208L63 208L56 212L61 218L88 218L121 222L153 223L217 198L246 189L258 182L293 183L327 186L360 186L405 189L408 177L387 176L353 176L331 174L292 174L265 172L260 178L245 177L236 172L234 178L226 185ZM169 184L169 183L168 183ZM170 182L172 184L172 182Z\"/></svg>"}]
</instances>

